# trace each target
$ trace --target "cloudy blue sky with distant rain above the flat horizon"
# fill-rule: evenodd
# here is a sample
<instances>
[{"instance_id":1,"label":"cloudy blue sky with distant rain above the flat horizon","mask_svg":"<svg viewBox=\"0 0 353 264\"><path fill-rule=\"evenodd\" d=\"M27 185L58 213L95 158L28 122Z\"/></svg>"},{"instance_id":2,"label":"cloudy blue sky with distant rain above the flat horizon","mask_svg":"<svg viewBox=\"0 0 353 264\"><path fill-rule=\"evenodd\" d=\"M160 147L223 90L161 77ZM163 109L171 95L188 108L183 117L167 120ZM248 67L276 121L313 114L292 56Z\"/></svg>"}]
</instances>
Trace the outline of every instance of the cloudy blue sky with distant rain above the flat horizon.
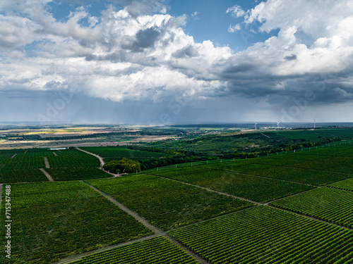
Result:
<instances>
[{"instance_id":1,"label":"cloudy blue sky with distant rain above the flat horizon","mask_svg":"<svg viewBox=\"0 0 353 264\"><path fill-rule=\"evenodd\" d=\"M353 0L1 0L0 122L353 122Z\"/></svg>"}]
</instances>

